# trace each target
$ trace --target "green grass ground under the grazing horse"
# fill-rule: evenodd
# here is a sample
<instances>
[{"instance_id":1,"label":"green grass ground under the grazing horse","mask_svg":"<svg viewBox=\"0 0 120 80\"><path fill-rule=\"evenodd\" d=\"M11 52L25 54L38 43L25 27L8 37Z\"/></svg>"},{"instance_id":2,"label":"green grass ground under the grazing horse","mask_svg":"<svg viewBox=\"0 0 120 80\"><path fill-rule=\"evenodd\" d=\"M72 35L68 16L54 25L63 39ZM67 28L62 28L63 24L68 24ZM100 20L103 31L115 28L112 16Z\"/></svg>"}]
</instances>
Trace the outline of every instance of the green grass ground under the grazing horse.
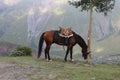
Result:
<instances>
[{"instance_id":1,"label":"green grass ground under the grazing horse","mask_svg":"<svg viewBox=\"0 0 120 80\"><path fill-rule=\"evenodd\" d=\"M119 64L94 64L54 59L47 62L33 57L0 57L0 62L29 66L32 70L25 75L29 80L120 80Z\"/></svg>"}]
</instances>

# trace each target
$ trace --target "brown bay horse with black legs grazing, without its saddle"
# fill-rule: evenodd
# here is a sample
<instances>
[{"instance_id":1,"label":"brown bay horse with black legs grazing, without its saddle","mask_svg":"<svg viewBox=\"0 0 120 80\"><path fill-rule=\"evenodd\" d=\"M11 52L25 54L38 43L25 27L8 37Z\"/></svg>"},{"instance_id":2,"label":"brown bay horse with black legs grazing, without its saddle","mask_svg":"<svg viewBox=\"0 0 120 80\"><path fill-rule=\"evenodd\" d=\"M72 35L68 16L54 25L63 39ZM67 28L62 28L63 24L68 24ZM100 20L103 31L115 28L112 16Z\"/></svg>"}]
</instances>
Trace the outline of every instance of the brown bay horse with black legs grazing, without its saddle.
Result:
<instances>
[{"instance_id":1,"label":"brown bay horse with black legs grazing, without its saddle","mask_svg":"<svg viewBox=\"0 0 120 80\"><path fill-rule=\"evenodd\" d=\"M51 60L49 51L50 51L50 47L53 43L56 43L58 45L67 46L66 55L64 57L65 61L67 61L67 55L68 55L69 51L70 51L70 59L71 59L71 61L73 60L73 57L72 57L73 46L75 46L76 44L78 44L82 48L82 57L84 59L87 59L87 56L89 54L89 52L87 51L88 46L85 43L84 39L80 35L78 35L72 31L73 36L69 37L67 39L68 41L66 43L66 41L63 41L64 37L60 37L58 35L58 33L59 33L59 31L57 31L57 30L50 30L50 31L46 31L46 32L42 33L40 40L39 40L37 58L39 58L41 56L43 42L45 41L45 43L46 43L45 59L47 59L49 61Z\"/></svg>"}]
</instances>

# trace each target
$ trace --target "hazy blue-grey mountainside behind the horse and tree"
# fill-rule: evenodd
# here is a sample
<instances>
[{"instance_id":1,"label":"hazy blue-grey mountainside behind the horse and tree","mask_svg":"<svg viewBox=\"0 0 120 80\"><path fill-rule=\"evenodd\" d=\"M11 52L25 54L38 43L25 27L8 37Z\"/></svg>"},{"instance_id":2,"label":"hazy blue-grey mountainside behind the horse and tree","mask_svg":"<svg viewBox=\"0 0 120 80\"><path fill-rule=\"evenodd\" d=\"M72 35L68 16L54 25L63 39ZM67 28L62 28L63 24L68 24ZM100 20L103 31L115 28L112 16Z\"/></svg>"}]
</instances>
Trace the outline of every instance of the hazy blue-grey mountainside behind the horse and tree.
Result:
<instances>
[{"instance_id":1,"label":"hazy blue-grey mountainside behind the horse and tree","mask_svg":"<svg viewBox=\"0 0 120 80\"><path fill-rule=\"evenodd\" d=\"M87 41L89 12L81 12L68 0L1 0L0 41L37 48L42 32L71 27ZM108 16L93 13L92 53L119 54L120 0ZM75 48L79 49L79 47ZM80 53L74 52L74 53Z\"/></svg>"}]
</instances>

